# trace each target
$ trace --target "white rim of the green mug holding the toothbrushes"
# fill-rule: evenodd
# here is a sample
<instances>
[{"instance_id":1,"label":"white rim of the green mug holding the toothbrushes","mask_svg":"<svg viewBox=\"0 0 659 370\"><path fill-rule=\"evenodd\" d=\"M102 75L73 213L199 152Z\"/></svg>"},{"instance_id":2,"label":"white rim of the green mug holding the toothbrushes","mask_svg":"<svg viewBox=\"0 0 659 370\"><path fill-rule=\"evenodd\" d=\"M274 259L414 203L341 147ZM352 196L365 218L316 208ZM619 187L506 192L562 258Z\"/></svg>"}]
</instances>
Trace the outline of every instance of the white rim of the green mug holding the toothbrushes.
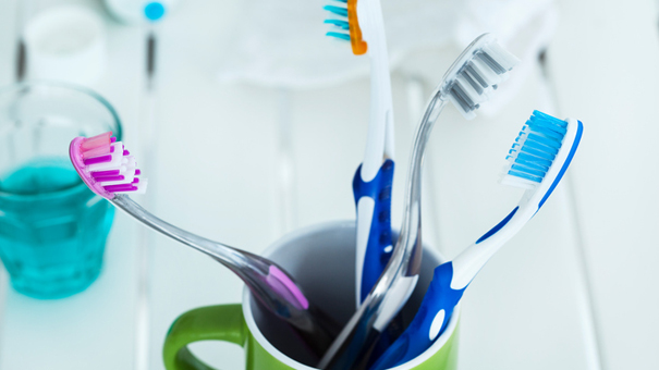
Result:
<instances>
[{"instance_id":1,"label":"white rim of the green mug holding the toothbrushes","mask_svg":"<svg viewBox=\"0 0 659 370\"><path fill-rule=\"evenodd\" d=\"M261 254L265 257L268 257L272 251L280 248L282 245L290 243L292 239L296 239L305 234L315 233L326 229L354 229L355 221L354 220L343 220L343 221L328 221L322 223L313 224L309 226L297 229L293 232L290 232L279 238L277 242L272 243L264 252ZM446 261L447 259L436 249L427 249L430 254L435 255L440 261ZM277 347L274 347L260 332L256 321L254 320L254 316L252 313L252 305L249 304L251 293L249 289L245 286L243 288L243 300L242 300L242 309L243 309L243 318L245 319L245 323L247 324L247 329L252 333L252 336L258 342L258 344L264 347L271 356L273 356L278 361L284 363L285 366L296 369L296 370L319 370L317 368L309 367L308 365L301 363L286 355L282 354ZM453 336L455 329L457 328L457 321L460 320L462 303L459 303L453 310L453 314L451 314L451 319L449 320L449 324L447 329L441 333L441 335L432 343L432 345L426 349L423 354L416 356L412 360L401 363L390 370L407 370L413 369L425 361L427 361L430 357L432 357L439 349L441 349L449 338Z\"/></svg>"}]
</instances>

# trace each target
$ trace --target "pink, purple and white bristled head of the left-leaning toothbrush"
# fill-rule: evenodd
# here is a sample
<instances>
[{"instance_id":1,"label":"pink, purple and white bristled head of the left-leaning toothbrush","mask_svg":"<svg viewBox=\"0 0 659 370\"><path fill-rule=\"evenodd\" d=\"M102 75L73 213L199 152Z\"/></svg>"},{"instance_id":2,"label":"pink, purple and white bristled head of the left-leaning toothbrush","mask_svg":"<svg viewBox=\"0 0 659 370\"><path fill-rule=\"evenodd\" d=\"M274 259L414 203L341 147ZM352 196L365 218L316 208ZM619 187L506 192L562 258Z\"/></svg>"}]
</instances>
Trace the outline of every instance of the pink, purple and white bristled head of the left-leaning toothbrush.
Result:
<instances>
[{"instance_id":1,"label":"pink, purple and white bristled head of the left-leaning toothbrush","mask_svg":"<svg viewBox=\"0 0 659 370\"><path fill-rule=\"evenodd\" d=\"M87 187L106 199L113 199L117 194L146 192L147 181L138 177L135 158L111 132L74 138L69 157Z\"/></svg>"}]
</instances>

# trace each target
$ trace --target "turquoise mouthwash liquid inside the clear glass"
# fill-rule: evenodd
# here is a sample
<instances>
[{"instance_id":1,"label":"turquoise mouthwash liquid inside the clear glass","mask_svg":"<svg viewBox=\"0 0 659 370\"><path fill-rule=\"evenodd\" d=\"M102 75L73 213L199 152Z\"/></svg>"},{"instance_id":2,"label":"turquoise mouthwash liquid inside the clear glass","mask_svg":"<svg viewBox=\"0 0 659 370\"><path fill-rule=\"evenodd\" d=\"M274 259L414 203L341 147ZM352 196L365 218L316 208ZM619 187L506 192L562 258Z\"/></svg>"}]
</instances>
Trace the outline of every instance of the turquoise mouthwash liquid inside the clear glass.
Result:
<instances>
[{"instance_id":1,"label":"turquoise mouthwash liquid inside the clear glass","mask_svg":"<svg viewBox=\"0 0 659 370\"><path fill-rule=\"evenodd\" d=\"M0 183L0 259L12 286L36 298L85 289L100 272L114 209L68 159L40 159Z\"/></svg>"}]
</instances>

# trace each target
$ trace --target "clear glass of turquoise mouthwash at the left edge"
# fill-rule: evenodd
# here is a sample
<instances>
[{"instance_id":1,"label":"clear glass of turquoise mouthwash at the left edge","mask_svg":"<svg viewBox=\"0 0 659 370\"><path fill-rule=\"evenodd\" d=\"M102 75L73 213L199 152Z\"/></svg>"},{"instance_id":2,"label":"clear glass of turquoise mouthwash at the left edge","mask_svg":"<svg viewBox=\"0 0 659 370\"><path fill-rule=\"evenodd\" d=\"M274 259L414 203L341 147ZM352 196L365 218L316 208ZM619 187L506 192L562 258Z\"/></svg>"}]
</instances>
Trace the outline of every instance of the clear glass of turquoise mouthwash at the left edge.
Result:
<instances>
[{"instance_id":1,"label":"clear glass of turquoise mouthwash at the left edge","mask_svg":"<svg viewBox=\"0 0 659 370\"><path fill-rule=\"evenodd\" d=\"M121 139L119 116L85 88L0 89L0 259L17 292L61 298L98 276L114 209L80 180L69 143L108 131Z\"/></svg>"}]
</instances>

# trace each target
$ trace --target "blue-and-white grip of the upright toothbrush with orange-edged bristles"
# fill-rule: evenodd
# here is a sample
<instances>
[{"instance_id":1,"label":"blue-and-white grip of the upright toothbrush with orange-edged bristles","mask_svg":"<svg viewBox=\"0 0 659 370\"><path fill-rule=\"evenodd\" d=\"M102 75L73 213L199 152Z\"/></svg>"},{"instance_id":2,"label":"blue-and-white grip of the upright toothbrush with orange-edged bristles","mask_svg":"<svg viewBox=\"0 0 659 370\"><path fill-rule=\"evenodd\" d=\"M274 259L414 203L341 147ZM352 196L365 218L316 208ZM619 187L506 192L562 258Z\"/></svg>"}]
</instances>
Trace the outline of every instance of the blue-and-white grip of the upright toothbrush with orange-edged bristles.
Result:
<instances>
[{"instance_id":1,"label":"blue-and-white grip of the upright toothbrush with orange-edged bristles","mask_svg":"<svg viewBox=\"0 0 659 370\"><path fill-rule=\"evenodd\" d=\"M357 208L356 293L357 307L385 271L391 257L391 185L393 161L386 160L375 178L362 180L362 165L353 178Z\"/></svg>"}]
</instances>

